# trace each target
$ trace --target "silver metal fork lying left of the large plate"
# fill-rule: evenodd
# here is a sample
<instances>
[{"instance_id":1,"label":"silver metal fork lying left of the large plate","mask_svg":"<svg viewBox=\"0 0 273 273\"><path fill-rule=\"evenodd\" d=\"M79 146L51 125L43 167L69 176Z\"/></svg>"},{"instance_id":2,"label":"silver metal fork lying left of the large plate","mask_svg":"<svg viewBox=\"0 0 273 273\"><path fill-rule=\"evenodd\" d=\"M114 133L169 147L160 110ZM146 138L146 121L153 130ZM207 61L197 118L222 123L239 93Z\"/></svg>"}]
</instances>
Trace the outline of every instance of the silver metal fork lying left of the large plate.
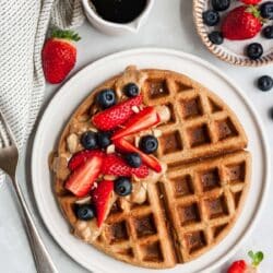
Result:
<instances>
[{"instance_id":1,"label":"silver metal fork lying left of the large plate","mask_svg":"<svg viewBox=\"0 0 273 273\"><path fill-rule=\"evenodd\" d=\"M13 133L0 111L0 169L11 179L12 186L22 207L22 216L25 223L31 249L34 256L36 270L38 273L58 273L48 251L41 240L40 235L34 224L33 216L27 207L21 187L16 179L16 166L19 162L19 150ZM1 146L1 145L0 145Z\"/></svg>"}]
</instances>

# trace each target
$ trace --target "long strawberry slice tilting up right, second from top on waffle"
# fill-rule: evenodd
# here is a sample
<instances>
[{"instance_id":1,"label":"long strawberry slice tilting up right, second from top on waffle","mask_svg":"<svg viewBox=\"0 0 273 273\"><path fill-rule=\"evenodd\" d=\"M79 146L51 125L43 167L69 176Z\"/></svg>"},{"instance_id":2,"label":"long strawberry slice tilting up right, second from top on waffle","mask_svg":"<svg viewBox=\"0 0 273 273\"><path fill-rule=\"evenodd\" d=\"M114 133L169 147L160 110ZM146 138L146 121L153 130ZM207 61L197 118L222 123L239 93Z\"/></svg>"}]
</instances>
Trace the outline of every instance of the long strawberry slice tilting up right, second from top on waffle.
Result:
<instances>
[{"instance_id":1,"label":"long strawberry slice tilting up right, second from top on waffle","mask_svg":"<svg viewBox=\"0 0 273 273\"><path fill-rule=\"evenodd\" d=\"M154 107L146 107L139 114L135 114L131 119L124 123L124 128L118 130L112 140L123 138L126 135L140 132L152 126L161 122L161 117Z\"/></svg>"}]
</instances>

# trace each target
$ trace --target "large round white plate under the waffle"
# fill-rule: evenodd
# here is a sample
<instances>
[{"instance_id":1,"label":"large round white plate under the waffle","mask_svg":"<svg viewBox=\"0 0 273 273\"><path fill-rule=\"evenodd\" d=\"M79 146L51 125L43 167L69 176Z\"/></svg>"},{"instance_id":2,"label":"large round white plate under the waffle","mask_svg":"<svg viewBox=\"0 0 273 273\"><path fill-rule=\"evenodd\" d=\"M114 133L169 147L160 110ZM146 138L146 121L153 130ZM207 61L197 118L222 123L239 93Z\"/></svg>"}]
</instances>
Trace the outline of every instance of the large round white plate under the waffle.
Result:
<instances>
[{"instance_id":1,"label":"large round white plate under the waffle","mask_svg":"<svg viewBox=\"0 0 273 273\"><path fill-rule=\"evenodd\" d=\"M253 157L253 174L247 202L235 227L219 245L199 259L162 271L212 272L235 253L258 219L269 185L269 153L257 114L241 91L216 68L191 55L155 48L118 52L87 66L60 88L44 112L33 146L32 178L40 215L56 241L86 269L95 272L152 272L152 270L116 261L69 233L67 222L52 193L52 181L47 163L48 155L59 139L63 126L78 105L96 85L123 71L129 64L136 64L139 68L169 69L189 75L214 91L232 106L247 131L249 150Z\"/></svg>"}]
</instances>

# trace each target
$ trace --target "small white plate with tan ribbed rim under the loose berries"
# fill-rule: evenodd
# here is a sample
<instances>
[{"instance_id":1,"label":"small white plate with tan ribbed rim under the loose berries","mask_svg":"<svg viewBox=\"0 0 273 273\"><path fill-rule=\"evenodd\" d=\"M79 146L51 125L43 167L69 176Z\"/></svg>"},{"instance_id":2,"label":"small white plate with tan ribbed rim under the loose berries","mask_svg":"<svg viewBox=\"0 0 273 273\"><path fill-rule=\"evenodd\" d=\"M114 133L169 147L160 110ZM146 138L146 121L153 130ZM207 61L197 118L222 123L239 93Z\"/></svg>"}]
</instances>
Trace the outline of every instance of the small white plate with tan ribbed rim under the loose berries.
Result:
<instances>
[{"instance_id":1,"label":"small white plate with tan ribbed rim under the loose berries","mask_svg":"<svg viewBox=\"0 0 273 273\"><path fill-rule=\"evenodd\" d=\"M252 39L246 39L246 40L225 39L224 43L219 46L212 44L207 37L207 34L211 33L212 31L219 29L221 22L217 26L210 27L204 25L202 13L212 8L210 2L211 0L193 0L193 17L198 34L200 35L203 44L213 55L215 55L216 57L226 62L245 67L260 67L273 62L273 39L265 39L264 37L262 37L261 33L258 34ZM265 0L261 1L261 3L262 2L265 2ZM232 4L228 11L240 4L241 2L232 0ZM223 19L228 11L221 12L219 13L221 19ZM264 50L263 56L258 60L250 60L245 55L245 49L247 45L251 43L260 43L263 46Z\"/></svg>"}]
</instances>

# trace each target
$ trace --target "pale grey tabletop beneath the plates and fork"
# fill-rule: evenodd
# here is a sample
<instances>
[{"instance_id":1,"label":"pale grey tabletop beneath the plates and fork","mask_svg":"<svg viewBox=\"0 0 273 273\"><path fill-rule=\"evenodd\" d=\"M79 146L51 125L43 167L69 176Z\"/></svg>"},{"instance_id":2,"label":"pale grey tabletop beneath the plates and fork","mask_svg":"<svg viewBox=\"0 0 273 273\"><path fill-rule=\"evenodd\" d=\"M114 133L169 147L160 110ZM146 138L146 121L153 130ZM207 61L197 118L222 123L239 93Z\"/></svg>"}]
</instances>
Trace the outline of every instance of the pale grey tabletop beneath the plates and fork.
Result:
<instances>
[{"instance_id":1,"label":"pale grey tabletop beneath the plates and fork","mask_svg":"<svg viewBox=\"0 0 273 273\"><path fill-rule=\"evenodd\" d=\"M168 47L193 54L217 66L219 70L225 71L227 75L229 75L234 82L245 91L247 96L253 102L263 120L270 146L272 147L273 121L269 118L269 108L273 106L273 91L262 93L253 85L257 76L265 73L272 73L271 75L273 75L272 66L259 69L237 68L217 60L214 56L207 52L197 36L192 22L191 8L190 0L157 0L146 25L141 28L138 35L127 37L105 36L96 32L88 23L85 23L79 29L82 40L78 45L79 59L76 68L73 70L73 74L103 56L140 46ZM58 87L58 85L47 86L46 103L55 94ZM29 205L34 210L36 223L39 226L43 238L45 239L52 259L61 273L86 272L58 247L58 245L51 239L50 235L48 235L38 216L32 197L29 180L31 145L32 140L26 149L27 152L22 158L19 168L19 179L25 190ZM271 155L273 154L272 152L273 150L271 149ZM269 195L273 195L272 187L270 191ZM7 182L0 189L0 271L5 273L33 273L35 272L35 269L32 256L14 200L14 195ZM273 260L270 259L270 256L273 252L272 207L273 199L271 198L266 202L261 221L254 228L252 236L246 241L239 253L236 256L236 258L244 258L245 253L250 249L263 250L265 256L268 254L268 259L265 259L261 266L261 272L263 273L272 272L270 268L273 266ZM224 268L225 266L223 266L223 269ZM219 269L216 272L225 271Z\"/></svg>"}]
</instances>

